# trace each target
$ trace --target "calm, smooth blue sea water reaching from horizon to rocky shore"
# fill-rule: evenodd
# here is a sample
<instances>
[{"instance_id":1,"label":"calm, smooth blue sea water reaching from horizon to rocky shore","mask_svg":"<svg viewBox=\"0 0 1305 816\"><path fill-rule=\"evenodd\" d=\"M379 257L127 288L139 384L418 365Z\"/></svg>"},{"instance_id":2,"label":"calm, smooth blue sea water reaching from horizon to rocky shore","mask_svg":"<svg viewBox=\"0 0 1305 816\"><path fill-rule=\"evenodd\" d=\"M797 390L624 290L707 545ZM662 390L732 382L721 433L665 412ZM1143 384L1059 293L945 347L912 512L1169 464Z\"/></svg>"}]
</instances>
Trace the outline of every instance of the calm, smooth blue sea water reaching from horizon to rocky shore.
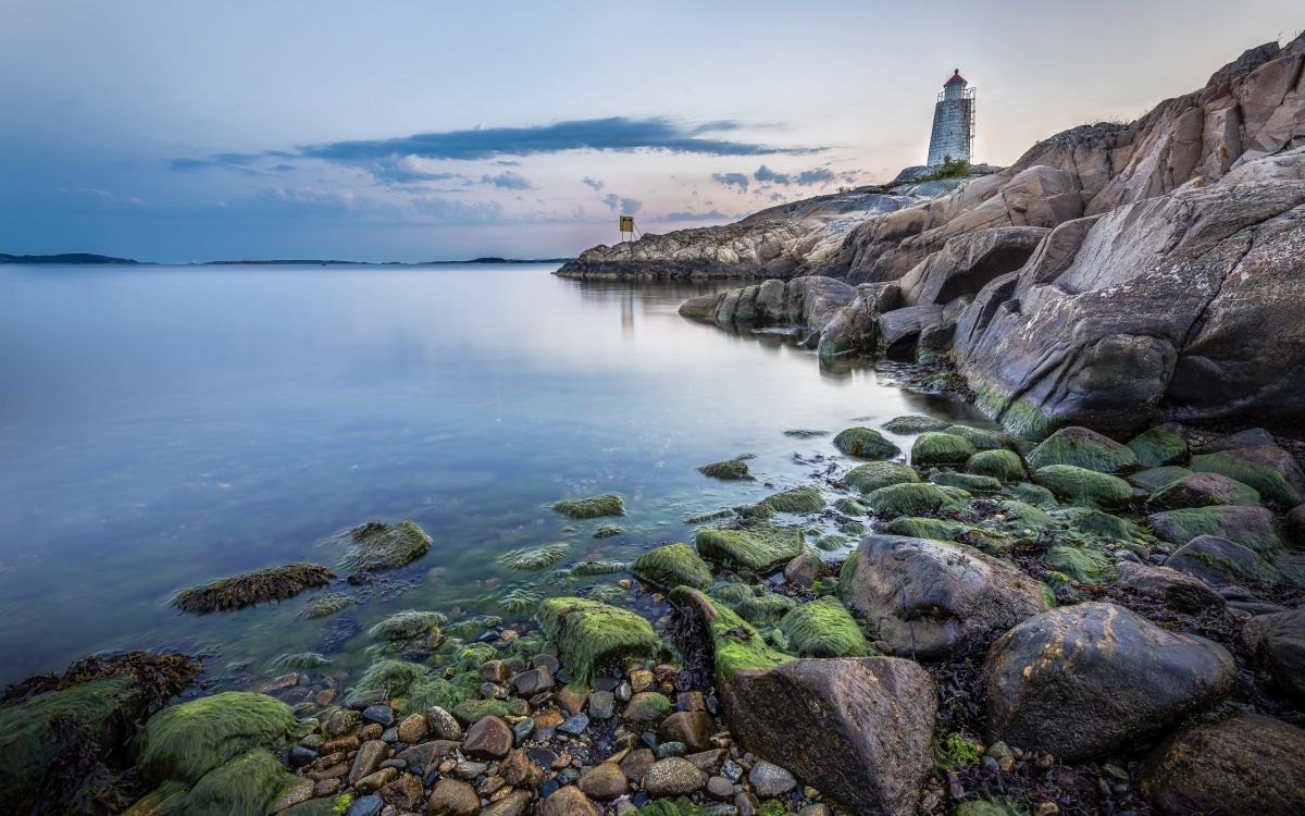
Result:
<instances>
[{"instance_id":1,"label":"calm, smooth blue sea water reaching from horizon to rocky shore","mask_svg":"<svg viewBox=\"0 0 1305 816\"><path fill-rule=\"evenodd\" d=\"M822 366L792 334L676 313L728 283L552 269L0 268L0 683L161 646L251 661L260 679L341 619L502 614L513 586L587 591L620 576L565 581L496 557L568 542L565 567L692 541L685 516L838 461L827 436L784 430L976 416L869 363ZM741 453L758 482L694 471ZM548 509L608 491L626 518ZM333 564L330 537L371 518L411 518L435 543L334 619L301 619L309 594L206 616L168 607L234 572ZM591 538L604 521L626 533ZM333 670L356 668L364 640Z\"/></svg>"}]
</instances>

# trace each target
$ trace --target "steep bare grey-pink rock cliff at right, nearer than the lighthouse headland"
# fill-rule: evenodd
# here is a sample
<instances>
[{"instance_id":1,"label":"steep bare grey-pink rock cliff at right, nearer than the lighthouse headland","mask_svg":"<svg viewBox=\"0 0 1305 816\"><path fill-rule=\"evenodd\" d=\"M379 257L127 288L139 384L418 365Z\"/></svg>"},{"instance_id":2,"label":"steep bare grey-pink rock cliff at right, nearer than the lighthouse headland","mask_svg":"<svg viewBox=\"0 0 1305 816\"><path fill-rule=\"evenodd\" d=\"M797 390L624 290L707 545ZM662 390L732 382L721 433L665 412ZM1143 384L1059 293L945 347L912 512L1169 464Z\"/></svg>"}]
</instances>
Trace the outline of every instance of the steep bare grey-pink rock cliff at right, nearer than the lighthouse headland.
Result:
<instances>
[{"instance_id":1,"label":"steep bare grey-pink rock cliff at right, nearer than the lighthouse headland","mask_svg":"<svg viewBox=\"0 0 1305 816\"><path fill-rule=\"evenodd\" d=\"M1298 420L1305 388L1284 375L1305 366L1302 67L1305 38L1253 48L1134 123L1066 131L868 218L797 261L848 286L786 302L825 307L796 316L822 353L950 356L1011 430ZM749 319L776 296L760 294L685 311Z\"/></svg>"}]
</instances>

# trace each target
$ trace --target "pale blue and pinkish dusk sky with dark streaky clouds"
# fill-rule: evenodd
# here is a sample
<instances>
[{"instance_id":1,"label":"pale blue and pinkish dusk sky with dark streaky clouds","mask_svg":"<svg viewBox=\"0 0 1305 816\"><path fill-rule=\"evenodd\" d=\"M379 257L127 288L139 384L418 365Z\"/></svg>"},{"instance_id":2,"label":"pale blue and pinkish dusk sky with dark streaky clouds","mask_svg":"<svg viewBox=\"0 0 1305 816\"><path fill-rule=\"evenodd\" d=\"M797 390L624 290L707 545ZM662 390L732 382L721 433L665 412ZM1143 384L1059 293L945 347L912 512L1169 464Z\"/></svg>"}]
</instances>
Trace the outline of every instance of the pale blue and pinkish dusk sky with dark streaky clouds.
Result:
<instances>
[{"instance_id":1,"label":"pale blue and pinkish dusk sky with dark streaky clouds","mask_svg":"<svg viewBox=\"0 0 1305 816\"><path fill-rule=\"evenodd\" d=\"M1300 0L0 0L0 252L573 256L1131 120Z\"/></svg>"}]
</instances>

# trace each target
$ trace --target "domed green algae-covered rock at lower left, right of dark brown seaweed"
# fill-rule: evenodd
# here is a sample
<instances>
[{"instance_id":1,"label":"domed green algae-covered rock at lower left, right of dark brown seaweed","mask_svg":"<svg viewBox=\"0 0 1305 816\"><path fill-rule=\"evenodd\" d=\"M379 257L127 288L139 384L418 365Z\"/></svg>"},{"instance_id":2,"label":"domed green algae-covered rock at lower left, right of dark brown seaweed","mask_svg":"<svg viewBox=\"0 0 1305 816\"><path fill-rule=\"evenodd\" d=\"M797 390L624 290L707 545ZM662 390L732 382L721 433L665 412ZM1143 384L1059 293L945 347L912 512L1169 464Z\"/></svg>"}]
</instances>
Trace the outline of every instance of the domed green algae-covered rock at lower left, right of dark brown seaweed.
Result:
<instances>
[{"instance_id":1,"label":"domed green algae-covered rock at lower left, right of dark brown seaweed","mask_svg":"<svg viewBox=\"0 0 1305 816\"><path fill-rule=\"evenodd\" d=\"M221 692L163 709L140 738L141 772L155 782L194 785L254 749L279 751L295 730L284 702L253 692Z\"/></svg>"}]
</instances>

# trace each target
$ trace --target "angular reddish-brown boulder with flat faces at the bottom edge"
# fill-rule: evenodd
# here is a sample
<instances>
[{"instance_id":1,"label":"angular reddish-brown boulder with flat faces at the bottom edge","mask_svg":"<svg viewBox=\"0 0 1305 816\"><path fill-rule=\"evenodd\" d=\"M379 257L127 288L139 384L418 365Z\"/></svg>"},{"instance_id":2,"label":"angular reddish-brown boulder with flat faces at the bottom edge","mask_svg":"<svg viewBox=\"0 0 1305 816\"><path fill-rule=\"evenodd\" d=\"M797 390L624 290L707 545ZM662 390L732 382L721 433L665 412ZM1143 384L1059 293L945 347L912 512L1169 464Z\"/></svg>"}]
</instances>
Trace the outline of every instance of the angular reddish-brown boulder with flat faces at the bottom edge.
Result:
<instances>
[{"instance_id":1,"label":"angular reddish-brown boulder with flat faces at the bottom edge","mask_svg":"<svg viewBox=\"0 0 1305 816\"><path fill-rule=\"evenodd\" d=\"M748 751L783 762L852 812L916 811L937 713L933 678L919 663L825 658L737 671L722 702Z\"/></svg>"}]
</instances>

